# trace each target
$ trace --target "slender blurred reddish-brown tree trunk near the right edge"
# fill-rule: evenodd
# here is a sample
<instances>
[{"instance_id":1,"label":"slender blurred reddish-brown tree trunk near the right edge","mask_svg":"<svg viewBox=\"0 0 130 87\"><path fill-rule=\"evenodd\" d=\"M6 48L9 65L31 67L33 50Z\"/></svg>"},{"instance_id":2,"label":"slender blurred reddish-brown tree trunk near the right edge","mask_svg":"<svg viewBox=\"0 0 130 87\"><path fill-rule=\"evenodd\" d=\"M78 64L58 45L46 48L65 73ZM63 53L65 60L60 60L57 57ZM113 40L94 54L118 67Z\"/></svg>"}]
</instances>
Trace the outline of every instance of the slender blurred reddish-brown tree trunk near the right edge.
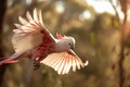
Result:
<instances>
[{"instance_id":1,"label":"slender blurred reddish-brown tree trunk near the right edge","mask_svg":"<svg viewBox=\"0 0 130 87\"><path fill-rule=\"evenodd\" d=\"M127 40L127 37L129 35L129 32L128 29L128 26L127 25L127 22L128 22L128 10L129 10L129 0L119 0L120 1L120 4L121 4L121 11L123 12L123 22L120 26L120 57L119 57L119 62L118 62L118 66L119 66L119 87L125 87L125 82L126 82L126 77L125 77L125 69L123 69L123 61L125 61L125 50L126 50L126 40Z\"/></svg>"}]
</instances>

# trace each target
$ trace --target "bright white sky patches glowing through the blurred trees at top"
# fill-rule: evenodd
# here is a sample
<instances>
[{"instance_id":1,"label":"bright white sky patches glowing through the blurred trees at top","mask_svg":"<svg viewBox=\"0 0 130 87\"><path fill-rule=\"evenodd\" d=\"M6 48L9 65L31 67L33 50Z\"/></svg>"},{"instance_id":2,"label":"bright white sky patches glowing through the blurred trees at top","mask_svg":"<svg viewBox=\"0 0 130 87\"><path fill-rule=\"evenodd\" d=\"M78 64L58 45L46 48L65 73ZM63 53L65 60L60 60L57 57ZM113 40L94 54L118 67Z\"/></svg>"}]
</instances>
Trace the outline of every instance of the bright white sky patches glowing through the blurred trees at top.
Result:
<instances>
[{"instance_id":1,"label":"bright white sky patches glowing through the blurred trees at top","mask_svg":"<svg viewBox=\"0 0 130 87\"><path fill-rule=\"evenodd\" d=\"M49 0L39 0L39 1L49 1ZM86 0L86 2L87 2L87 4L92 5L98 13L108 12L110 14L115 14L115 10L112 7L109 0ZM119 5L117 7L117 0L113 0L113 3L114 3L114 5L116 5L119 17L123 18L123 14L121 12L120 7ZM55 3L55 10L58 13L63 13L65 10L64 3L62 1L57 1ZM88 20L90 17L91 17L91 13L88 10L86 10L84 12L82 12L79 15L79 18L81 21Z\"/></svg>"}]
</instances>

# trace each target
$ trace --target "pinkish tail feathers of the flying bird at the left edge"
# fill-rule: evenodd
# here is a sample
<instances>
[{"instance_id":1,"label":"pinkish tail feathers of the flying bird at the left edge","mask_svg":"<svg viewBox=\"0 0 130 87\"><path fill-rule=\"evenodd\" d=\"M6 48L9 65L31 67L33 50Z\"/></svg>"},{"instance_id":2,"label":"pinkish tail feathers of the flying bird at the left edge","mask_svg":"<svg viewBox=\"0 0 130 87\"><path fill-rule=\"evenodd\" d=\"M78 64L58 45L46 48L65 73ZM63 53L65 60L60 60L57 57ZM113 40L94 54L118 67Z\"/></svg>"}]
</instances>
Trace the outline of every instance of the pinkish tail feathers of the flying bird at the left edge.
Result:
<instances>
[{"instance_id":1,"label":"pinkish tail feathers of the flying bird at the left edge","mask_svg":"<svg viewBox=\"0 0 130 87\"><path fill-rule=\"evenodd\" d=\"M0 61L0 65L3 64L3 63L14 63L14 62L16 62L14 60L17 59L20 55L21 55L20 53L14 53L9 58L8 57L1 58L2 61Z\"/></svg>"}]
</instances>

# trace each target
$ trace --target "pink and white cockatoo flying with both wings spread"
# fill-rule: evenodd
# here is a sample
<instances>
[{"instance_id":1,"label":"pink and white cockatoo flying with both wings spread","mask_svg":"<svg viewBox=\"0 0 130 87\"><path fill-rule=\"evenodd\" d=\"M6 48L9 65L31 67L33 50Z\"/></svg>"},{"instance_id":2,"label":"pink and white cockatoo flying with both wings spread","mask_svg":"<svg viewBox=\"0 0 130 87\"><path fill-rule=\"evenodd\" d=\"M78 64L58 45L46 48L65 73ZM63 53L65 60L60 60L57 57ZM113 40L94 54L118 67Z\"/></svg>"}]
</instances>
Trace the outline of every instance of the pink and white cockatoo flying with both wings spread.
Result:
<instances>
[{"instance_id":1,"label":"pink and white cockatoo flying with both wings spread","mask_svg":"<svg viewBox=\"0 0 130 87\"><path fill-rule=\"evenodd\" d=\"M12 44L15 53L0 61L0 64L26 57L51 66L58 74L67 74L72 67L76 71L88 65L88 61L83 63L73 51L75 38L58 34L57 38L52 36L42 22L40 10L35 9L32 16L27 12L26 17L27 20L20 16L21 24L14 24L16 29L13 29Z\"/></svg>"}]
</instances>

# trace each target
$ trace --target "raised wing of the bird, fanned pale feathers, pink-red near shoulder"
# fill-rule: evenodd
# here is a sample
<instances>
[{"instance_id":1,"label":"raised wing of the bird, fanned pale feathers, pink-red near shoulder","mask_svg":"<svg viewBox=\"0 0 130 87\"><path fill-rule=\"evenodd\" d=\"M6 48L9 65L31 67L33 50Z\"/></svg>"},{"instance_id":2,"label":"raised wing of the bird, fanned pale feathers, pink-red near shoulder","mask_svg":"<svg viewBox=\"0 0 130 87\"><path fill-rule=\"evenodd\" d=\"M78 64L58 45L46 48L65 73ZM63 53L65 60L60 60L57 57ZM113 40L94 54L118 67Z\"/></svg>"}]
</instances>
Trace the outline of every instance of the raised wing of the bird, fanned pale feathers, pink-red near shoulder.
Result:
<instances>
[{"instance_id":1,"label":"raised wing of the bird, fanned pale feathers, pink-red near shoulder","mask_svg":"<svg viewBox=\"0 0 130 87\"><path fill-rule=\"evenodd\" d=\"M13 30L12 42L16 53L26 52L42 42L54 41L53 36L43 25L41 11L35 9L32 17L29 12L26 16L27 21L18 17L21 24L15 24L16 29Z\"/></svg>"}]
</instances>

